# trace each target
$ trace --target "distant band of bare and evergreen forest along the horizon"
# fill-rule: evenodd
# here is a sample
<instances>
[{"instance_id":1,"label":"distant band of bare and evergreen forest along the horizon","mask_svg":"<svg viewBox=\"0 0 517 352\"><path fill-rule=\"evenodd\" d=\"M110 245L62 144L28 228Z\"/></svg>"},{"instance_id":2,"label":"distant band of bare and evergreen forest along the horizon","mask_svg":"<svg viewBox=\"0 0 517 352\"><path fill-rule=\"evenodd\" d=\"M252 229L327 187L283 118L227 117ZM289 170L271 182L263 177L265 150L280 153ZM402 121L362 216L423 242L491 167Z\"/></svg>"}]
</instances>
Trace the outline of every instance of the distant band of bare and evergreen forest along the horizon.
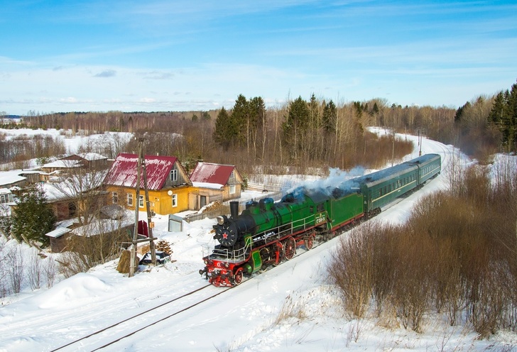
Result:
<instances>
[{"instance_id":1,"label":"distant band of bare and evergreen forest along the horizon","mask_svg":"<svg viewBox=\"0 0 517 352\"><path fill-rule=\"evenodd\" d=\"M23 119L30 128L62 128L73 135L132 133L129 142L87 145L114 158L136 153L138 138L145 138L150 155L175 155L187 169L198 160L238 165L244 173L260 165L267 172L304 172L310 167L356 165L380 167L408 153L404 138L389 133L379 137L369 126L386 131L422 134L454 144L479 160L498 151L515 151L517 88L493 97L479 96L459 109L447 106L401 106L386 99L341 102L316 97L288 99L266 107L261 97L239 94L233 106L212 111L70 112L33 114ZM12 127L12 126L11 126ZM65 153L60 141L44 141L56 148L40 148L28 138L6 141L0 134L0 163L22 158L44 158ZM107 139L105 140L107 142ZM392 147L392 148L390 148ZM23 150L23 153L20 153Z\"/></svg>"}]
</instances>

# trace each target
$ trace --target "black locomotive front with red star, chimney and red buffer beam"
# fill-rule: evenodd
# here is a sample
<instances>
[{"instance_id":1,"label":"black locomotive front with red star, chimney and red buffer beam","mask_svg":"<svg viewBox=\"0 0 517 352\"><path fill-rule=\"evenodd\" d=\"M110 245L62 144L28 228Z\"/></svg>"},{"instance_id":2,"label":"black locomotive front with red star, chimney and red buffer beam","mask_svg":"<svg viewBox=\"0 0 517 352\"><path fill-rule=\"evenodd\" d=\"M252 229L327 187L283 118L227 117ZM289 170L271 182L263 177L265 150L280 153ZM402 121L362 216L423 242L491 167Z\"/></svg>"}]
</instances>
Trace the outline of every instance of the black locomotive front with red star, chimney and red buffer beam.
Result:
<instances>
[{"instance_id":1,"label":"black locomotive front with red star, chimney and red buffer beam","mask_svg":"<svg viewBox=\"0 0 517 352\"><path fill-rule=\"evenodd\" d=\"M238 202L231 202L232 217L217 216L213 229L219 245L203 258L205 268L200 274L217 287L239 285L243 278L243 265L247 260L245 234L254 227L254 222L249 216L237 216L238 207Z\"/></svg>"}]
</instances>

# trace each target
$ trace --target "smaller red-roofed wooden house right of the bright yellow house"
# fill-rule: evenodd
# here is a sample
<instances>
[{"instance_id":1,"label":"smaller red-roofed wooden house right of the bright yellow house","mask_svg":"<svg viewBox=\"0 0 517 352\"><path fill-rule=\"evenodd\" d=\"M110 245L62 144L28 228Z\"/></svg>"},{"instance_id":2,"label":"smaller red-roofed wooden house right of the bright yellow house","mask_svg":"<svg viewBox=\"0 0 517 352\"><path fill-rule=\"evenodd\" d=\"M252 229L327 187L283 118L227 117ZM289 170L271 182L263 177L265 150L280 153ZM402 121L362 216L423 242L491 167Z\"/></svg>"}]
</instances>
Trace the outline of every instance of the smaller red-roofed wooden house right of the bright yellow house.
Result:
<instances>
[{"instance_id":1,"label":"smaller red-roofed wooden house right of the bright yellow house","mask_svg":"<svg viewBox=\"0 0 517 352\"><path fill-rule=\"evenodd\" d=\"M241 197L242 177L234 165L197 163L190 180L194 187L190 209L199 210L216 200L226 202Z\"/></svg>"}]
</instances>

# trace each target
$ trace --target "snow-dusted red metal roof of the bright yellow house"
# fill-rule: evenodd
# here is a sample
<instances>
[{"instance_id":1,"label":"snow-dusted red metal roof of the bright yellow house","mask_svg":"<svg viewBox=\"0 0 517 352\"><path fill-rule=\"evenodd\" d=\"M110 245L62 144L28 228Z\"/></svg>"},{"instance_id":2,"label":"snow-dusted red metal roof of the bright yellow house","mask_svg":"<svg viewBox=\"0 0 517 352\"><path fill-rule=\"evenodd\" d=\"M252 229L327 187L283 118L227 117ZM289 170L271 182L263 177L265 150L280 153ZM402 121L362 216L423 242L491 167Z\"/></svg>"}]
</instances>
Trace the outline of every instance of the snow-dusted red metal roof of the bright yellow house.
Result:
<instances>
[{"instance_id":1,"label":"snow-dusted red metal roof of the bright yellow house","mask_svg":"<svg viewBox=\"0 0 517 352\"><path fill-rule=\"evenodd\" d=\"M170 175L170 170L178 158L174 156L145 155L147 188L162 189ZM117 155L104 184L136 188L138 156L136 154L120 153ZM143 172L143 167L142 167ZM143 175L140 177L140 188L143 189Z\"/></svg>"}]
</instances>

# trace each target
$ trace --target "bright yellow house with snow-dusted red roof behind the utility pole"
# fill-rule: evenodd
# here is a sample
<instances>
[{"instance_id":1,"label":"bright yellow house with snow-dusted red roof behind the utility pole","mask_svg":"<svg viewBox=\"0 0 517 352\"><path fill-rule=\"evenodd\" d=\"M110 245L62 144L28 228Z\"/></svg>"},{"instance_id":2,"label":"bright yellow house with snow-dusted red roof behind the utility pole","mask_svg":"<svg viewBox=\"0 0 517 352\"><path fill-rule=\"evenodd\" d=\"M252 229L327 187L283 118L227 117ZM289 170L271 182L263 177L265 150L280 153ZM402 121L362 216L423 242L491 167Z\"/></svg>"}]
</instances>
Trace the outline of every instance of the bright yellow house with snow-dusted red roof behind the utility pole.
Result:
<instances>
[{"instance_id":1,"label":"bright yellow house with snow-dusted red roof behind the utility pole","mask_svg":"<svg viewBox=\"0 0 517 352\"><path fill-rule=\"evenodd\" d=\"M144 159L151 211L168 215L187 210L192 182L178 158L146 155ZM126 209L138 207L140 211L147 211L143 167L140 194L136 199L137 169L138 155L121 153L116 157L104 179L111 197L110 203L123 205Z\"/></svg>"}]
</instances>

